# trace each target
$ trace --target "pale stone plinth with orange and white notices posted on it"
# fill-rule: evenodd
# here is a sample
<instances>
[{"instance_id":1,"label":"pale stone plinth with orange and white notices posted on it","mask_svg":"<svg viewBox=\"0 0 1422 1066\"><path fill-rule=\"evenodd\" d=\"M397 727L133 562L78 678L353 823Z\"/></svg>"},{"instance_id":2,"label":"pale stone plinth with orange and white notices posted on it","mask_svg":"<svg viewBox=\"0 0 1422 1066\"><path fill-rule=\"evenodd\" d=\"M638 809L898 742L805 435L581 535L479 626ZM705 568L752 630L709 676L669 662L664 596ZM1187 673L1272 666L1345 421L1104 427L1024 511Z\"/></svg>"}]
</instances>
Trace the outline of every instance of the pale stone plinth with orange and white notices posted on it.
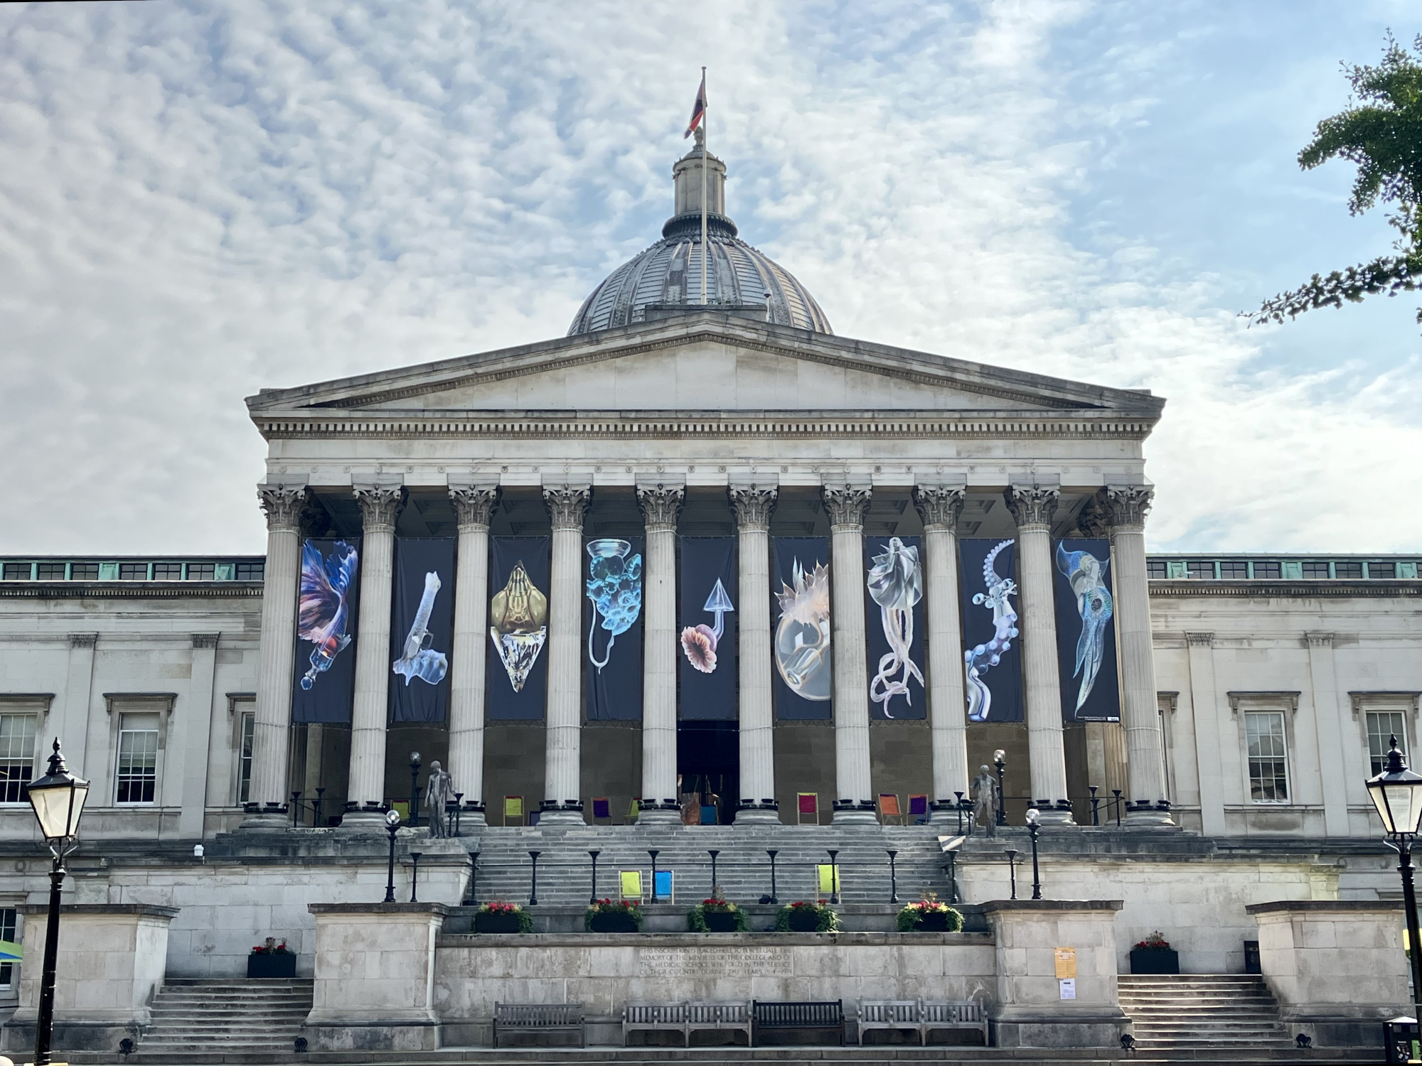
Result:
<instances>
[{"instance_id":1,"label":"pale stone plinth with orange and white notices posted on it","mask_svg":"<svg viewBox=\"0 0 1422 1066\"><path fill-rule=\"evenodd\" d=\"M1119 900L994 900L1000 1048L1113 1048L1129 1019L1116 995ZM1076 998L1061 998L1057 948L1076 949Z\"/></svg>"}]
</instances>

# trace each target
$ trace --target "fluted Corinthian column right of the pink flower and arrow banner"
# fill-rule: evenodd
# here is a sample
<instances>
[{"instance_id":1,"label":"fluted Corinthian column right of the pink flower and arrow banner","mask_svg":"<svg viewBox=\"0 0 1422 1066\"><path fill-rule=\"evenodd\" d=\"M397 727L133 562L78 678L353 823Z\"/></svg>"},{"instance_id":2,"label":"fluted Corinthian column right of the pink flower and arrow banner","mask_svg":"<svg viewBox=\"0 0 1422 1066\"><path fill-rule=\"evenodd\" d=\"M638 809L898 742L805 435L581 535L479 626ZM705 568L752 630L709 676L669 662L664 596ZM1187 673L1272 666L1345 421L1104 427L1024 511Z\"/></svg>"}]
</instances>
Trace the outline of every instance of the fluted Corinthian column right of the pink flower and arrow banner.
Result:
<instances>
[{"instance_id":1,"label":"fluted Corinthian column right of the pink flower and arrow banner","mask_svg":"<svg viewBox=\"0 0 1422 1066\"><path fill-rule=\"evenodd\" d=\"M735 824L779 822L771 704L771 510L775 489L731 489L735 509L737 661L741 674L741 804Z\"/></svg>"}]
</instances>

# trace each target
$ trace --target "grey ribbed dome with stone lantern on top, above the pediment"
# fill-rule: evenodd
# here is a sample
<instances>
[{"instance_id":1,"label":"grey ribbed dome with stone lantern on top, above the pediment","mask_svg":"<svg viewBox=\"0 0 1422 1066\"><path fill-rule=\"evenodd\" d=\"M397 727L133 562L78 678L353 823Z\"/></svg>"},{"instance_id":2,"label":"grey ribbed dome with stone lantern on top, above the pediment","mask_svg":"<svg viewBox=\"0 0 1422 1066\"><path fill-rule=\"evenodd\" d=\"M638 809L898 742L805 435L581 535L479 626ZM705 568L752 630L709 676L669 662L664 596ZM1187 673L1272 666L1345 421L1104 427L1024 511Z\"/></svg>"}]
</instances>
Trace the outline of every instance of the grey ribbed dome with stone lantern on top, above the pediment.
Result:
<instances>
[{"instance_id":1,"label":"grey ribbed dome with stone lantern on top, above the pediment","mask_svg":"<svg viewBox=\"0 0 1422 1066\"><path fill-rule=\"evenodd\" d=\"M698 141L701 131L697 131ZM725 216L725 163L698 144L673 166L675 215L661 227L661 240L623 263L583 301L567 334L610 330L694 310L701 298L701 166L707 171L708 310L729 310L751 318L833 333L815 297L791 271L737 236ZM769 303L769 314L766 314Z\"/></svg>"}]
</instances>

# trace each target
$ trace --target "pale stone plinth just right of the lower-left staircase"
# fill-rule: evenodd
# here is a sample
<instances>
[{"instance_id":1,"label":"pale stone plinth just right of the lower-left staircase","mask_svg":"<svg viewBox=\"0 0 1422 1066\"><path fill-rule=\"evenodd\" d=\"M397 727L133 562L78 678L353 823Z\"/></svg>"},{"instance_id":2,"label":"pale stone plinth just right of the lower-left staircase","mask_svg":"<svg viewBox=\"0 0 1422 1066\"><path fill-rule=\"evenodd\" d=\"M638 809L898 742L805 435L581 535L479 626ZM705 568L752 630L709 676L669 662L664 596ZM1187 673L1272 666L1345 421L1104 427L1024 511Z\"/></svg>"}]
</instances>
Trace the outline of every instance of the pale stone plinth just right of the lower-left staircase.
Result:
<instances>
[{"instance_id":1,"label":"pale stone plinth just right of the lower-left staircase","mask_svg":"<svg viewBox=\"0 0 1422 1066\"><path fill-rule=\"evenodd\" d=\"M438 903L313 903L316 984L303 1032L311 1050L434 1050Z\"/></svg>"}]
</instances>

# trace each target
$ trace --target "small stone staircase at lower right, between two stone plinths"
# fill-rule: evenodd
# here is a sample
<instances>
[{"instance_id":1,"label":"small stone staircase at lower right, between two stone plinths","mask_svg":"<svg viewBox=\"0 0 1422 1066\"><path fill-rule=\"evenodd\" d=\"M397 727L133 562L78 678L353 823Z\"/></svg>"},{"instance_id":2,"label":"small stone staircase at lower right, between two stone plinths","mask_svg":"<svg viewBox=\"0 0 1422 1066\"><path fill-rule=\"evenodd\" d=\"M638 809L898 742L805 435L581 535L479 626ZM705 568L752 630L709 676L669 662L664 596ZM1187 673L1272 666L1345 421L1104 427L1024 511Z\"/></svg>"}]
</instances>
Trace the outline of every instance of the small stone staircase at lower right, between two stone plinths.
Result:
<instances>
[{"instance_id":1,"label":"small stone staircase at lower right, between two stone plinths","mask_svg":"<svg viewBox=\"0 0 1422 1066\"><path fill-rule=\"evenodd\" d=\"M1180 974L1122 976L1121 1009L1142 1053L1287 1050L1294 1036L1260 976Z\"/></svg>"}]
</instances>

